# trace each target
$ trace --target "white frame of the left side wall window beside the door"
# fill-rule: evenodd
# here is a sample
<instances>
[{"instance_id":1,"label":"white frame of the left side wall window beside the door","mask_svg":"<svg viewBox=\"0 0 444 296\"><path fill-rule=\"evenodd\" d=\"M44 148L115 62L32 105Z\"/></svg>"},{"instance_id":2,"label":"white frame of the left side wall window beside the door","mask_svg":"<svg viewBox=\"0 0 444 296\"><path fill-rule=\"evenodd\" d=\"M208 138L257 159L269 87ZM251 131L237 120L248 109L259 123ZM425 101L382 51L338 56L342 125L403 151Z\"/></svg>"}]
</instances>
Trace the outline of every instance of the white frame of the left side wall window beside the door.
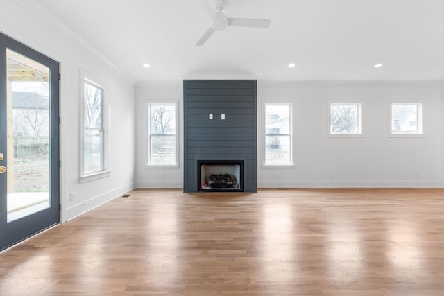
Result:
<instances>
[{"instance_id":1,"label":"white frame of the left side wall window beside the door","mask_svg":"<svg viewBox=\"0 0 444 296\"><path fill-rule=\"evenodd\" d=\"M103 151L101 159L101 171L92 173L85 173L85 83L94 85L102 89L102 134L103 134ZM80 71L80 182L88 182L99 179L101 177L108 177L110 171L108 170L108 89L103 87L99 80L94 78L86 71Z\"/></svg>"}]
</instances>

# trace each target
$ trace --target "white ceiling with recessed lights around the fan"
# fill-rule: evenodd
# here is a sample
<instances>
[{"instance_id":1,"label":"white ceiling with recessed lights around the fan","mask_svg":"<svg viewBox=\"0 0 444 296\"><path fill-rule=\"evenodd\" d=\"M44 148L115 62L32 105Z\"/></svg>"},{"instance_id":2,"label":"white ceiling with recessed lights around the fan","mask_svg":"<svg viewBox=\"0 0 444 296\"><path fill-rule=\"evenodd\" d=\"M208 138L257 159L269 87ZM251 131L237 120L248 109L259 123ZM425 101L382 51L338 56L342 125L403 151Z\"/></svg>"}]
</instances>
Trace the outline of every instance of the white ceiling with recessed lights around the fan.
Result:
<instances>
[{"instance_id":1,"label":"white ceiling with recessed lights around the fan","mask_svg":"<svg viewBox=\"0 0 444 296\"><path fill-rule=\"evenodd\" d=\"M228 17L271 26L228 27L204 46L195 46L210 26L201 0L37 1L139 81L444 80L444 0L227 0Z\"/></svg>"}]
</instances>

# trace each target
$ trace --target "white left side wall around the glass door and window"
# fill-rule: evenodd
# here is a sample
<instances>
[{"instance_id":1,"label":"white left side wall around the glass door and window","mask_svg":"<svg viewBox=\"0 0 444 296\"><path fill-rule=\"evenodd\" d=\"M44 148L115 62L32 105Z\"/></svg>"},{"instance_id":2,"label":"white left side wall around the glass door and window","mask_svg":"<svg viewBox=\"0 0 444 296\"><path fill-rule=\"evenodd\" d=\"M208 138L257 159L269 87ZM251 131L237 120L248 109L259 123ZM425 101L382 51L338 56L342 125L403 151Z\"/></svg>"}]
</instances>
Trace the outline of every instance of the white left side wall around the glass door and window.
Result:
<instances>
[{"instance_id":1,"label":"white left side wall around the glass door and window","mask_svg":"<svg viewBox=\"0 0 444 296\"><path fill-rule=\"evenodd\" d=\"M62 222L135 187L135 80L33 1L3 0L0 31L60 62ZM80 70L108 88L110 175L79 182ZM74 193L74 200L70 199Z\"/></svg>"}]
</instances>

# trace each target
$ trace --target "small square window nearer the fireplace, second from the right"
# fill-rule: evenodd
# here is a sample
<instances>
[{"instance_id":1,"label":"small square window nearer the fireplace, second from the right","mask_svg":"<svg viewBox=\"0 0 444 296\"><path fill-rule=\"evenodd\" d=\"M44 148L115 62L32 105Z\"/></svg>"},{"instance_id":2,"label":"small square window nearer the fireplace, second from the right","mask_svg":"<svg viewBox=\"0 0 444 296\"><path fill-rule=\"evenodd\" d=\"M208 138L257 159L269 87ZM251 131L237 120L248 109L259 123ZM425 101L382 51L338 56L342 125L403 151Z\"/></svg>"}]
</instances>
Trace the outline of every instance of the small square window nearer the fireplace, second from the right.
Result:
<instances>
[{"instance_id":1,"label":"small square window nearer the fireplace, second from the right","mask_svg":"<svg viewBox=\"0 0 444 296\"><path fill-rule=\"evenodd\" d=\"M330 103L330 135L361 135L361 104Z\"/></svg>"}]
</instances>

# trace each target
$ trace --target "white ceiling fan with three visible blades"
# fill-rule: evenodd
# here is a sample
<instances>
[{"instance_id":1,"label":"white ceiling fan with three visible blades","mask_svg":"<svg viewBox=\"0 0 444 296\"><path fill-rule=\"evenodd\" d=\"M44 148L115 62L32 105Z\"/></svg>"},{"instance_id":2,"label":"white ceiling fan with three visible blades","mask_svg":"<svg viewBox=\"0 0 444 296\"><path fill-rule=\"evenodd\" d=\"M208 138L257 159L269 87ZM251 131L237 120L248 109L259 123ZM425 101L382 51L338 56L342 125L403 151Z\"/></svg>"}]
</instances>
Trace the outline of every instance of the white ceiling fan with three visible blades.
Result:
<instances>
[{"instance_id":1,"label":"white ceiling fan with three visible blades","mask_svg":"<svg viewBox=\"0 0 444 296\"><path fill-rule=\"evenodd\" d=\"M207 15L211 17L210 28L200 37L196 46L203 46L207 42L208 38L216 31L222 31L227 26L233 27L250 27L250 28L268 28L270 26L269 19L239 19L234 17L227 17L222 13L223 8L226 6L225 0L214 0L214 10L207 1L203 0L200 7L207 12Z\"/></svg>"}]
</instances>

